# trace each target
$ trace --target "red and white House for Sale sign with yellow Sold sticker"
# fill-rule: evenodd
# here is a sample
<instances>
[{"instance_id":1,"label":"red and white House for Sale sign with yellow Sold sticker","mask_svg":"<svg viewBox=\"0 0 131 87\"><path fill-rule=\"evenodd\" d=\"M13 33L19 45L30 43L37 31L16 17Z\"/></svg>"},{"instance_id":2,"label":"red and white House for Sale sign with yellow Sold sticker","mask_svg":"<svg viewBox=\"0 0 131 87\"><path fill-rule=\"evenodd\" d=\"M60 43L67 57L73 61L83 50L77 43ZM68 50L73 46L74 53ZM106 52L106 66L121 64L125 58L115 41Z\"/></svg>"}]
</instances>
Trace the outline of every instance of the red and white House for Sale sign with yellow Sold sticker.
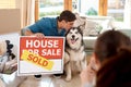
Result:
<instances>
[{"instance_id":1,"label":"red and white House for Sale sign with yellow Sold sticker","mask_svg":"<svg viewBox=\"0 0 131 87\"><path fill-rule=\"evenodd\" d=\"M20 37L19 75L63 72L64 37Z\"/></svg>"}]
</instances>

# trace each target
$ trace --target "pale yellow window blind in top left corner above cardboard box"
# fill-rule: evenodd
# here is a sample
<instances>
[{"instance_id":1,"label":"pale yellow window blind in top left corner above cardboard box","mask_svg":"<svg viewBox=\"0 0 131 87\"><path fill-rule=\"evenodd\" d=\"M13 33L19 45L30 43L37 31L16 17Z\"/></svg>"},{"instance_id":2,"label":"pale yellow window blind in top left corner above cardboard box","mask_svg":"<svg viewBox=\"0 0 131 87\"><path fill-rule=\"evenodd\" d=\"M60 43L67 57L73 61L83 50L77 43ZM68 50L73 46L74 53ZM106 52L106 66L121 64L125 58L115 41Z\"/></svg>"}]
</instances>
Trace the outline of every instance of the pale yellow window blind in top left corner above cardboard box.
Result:
<instances>
[{"instance_id":1,"label":"pale yellow window blind in top left corner above cardboard box","mask_svg":"<svg viewBox=\"0 0 131 87\"><path fill-rule=\"evenodd\" d=\"M0 0L0 9L15 9L15 0Z\"/></svg>"}]
</instances>

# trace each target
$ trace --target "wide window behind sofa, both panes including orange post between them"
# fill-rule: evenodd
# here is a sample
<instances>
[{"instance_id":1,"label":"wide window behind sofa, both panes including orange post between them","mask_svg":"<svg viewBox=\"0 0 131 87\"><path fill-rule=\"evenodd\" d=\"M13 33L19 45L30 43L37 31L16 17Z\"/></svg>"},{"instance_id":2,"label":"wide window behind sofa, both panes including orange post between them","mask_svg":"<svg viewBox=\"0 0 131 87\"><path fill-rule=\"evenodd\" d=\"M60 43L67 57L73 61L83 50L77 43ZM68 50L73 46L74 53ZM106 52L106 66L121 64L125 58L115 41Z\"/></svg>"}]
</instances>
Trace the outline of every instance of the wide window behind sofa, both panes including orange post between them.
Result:
<instances>
[{"instance_id":1,"label":"wide window behind sofa, both panes including orange post between them","mask_svg":"<svg viewBox=\"0 0 131 87\"><path fill-rule=\"evenodd\" d=\"M72 0L72 10L85 15L114 16L117 22L123 22L124 3L126 0Z\"/></svg>"}]
</instances>

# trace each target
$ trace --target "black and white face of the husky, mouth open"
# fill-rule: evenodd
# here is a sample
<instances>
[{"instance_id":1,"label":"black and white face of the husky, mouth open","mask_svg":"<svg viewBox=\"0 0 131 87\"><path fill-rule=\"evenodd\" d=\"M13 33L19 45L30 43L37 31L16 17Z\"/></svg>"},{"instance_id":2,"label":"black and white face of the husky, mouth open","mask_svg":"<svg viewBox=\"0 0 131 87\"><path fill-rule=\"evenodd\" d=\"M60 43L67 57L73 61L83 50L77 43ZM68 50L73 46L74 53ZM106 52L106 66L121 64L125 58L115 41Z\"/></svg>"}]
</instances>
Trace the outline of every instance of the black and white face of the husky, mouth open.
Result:
<instances>
[{"instance_id":1,"label":"black and white face of the husky, mouth open","mask_svg":"<svg viewBox=\"0 0 131 87\"><path fill-rule=\"evenodd\" d=\"M72 27L66 35L67 45L76 49L82 45L83 35L80 27Z\"/></svg>"}]
</instances>

